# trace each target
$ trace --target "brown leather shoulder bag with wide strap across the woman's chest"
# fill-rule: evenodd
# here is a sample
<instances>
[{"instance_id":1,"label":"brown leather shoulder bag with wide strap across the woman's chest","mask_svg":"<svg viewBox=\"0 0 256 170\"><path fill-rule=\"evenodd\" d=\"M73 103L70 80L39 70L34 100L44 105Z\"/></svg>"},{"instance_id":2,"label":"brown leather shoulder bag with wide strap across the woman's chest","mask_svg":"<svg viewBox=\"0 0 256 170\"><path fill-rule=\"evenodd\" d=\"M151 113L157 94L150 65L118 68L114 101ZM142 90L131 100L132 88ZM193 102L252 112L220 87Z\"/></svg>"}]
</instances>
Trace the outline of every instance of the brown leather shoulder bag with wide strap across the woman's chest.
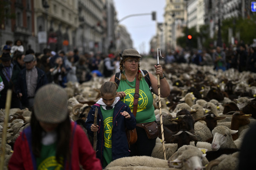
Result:
<instances>
[{"instance_id":1,"label":"brown leather shoulder bag with wide strap across the woman's chest","mask_svg":"<svg viewBox=\"0 0 256 170\"><path fill-rule=\"evenodd\" d=\"M139 76L139 73L137 73L137 75L136 75L135 94L133 95L134 99L133 99L133 112L132 113L135 117L136 117L137 108L138 108L138 100L140 97L140 94L139 94L140 80L139 80L138 76ZM129 148L130 148L130 145L135 144L135 142L137 141L136 128L134 128L133 130L126 129L126 137L127 137L127 141L128 141Z\"/></svg>"}]
</instances>

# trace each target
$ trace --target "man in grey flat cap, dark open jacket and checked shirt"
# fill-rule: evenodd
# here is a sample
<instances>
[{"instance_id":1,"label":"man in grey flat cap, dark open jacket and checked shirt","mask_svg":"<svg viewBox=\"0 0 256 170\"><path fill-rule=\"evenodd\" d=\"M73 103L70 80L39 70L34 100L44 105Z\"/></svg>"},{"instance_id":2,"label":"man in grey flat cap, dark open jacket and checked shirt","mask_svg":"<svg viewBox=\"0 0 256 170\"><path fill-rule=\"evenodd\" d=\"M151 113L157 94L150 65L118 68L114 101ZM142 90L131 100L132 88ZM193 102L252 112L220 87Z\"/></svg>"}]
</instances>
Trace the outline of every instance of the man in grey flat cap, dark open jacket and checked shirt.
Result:
<instances>
[{"instance_id":1,"label":"man in grey flat cap, dark open jacket and checked shirt","mask_svg":"<svg viewBox=\"0 0 256 170\"><path fill-rule=\"evenodd\" d=\"M48 83L46 73L35 66L35 56L28 54L24 57L26 65L19 73L16 92L21 99L22 107L32 110L35 92Z\"/></svg>"}]
</instances>

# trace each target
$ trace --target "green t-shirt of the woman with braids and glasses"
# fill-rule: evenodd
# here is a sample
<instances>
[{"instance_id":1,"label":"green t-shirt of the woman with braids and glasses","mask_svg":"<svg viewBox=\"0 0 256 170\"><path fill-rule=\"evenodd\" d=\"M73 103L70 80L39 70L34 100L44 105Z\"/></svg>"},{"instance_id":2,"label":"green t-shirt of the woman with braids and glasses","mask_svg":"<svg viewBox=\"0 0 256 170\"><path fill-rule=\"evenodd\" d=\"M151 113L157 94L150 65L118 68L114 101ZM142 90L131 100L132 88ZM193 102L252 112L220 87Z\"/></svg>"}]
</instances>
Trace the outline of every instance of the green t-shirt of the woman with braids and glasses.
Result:
<instances>
[{"instance_id":1,"label":"green t-shirt of the woman with braids and glasses","mask_svg":"<svg viewBox=\"0 0 256 170\"><path fill-rule=\"evenodd\" d=\"M127 104L131 111L133 112L133 95L135 93L135 83L136 79L133 82L128 82L128 80L120 80L117 92L124 92L126 94L125 97L121 99L125 104ZM138 108L136 113L136 122L137 123L146 123L152 122L156 120L156 116L154 114L154 106L153 106L153 95L149 89L149 85L147 84L144 77L140 80L140 90L139 90L139 101Z\"/></svg>"}]
</instances>

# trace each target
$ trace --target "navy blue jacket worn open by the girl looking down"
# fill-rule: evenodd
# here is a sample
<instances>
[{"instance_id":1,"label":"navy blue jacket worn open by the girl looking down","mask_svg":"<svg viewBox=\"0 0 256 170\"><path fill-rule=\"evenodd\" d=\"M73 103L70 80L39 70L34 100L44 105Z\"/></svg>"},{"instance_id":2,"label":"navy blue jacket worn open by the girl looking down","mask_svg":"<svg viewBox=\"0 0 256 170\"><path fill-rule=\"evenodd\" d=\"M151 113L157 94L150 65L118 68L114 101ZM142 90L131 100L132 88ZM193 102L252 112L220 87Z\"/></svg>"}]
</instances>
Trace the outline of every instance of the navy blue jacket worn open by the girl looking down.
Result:
<instances>
[{"instance_id":1,"label":"navy blue jacket worn open by the girl looking down","mask_svg":"<svg viewBox=\"0 0 256 170\"><path fill-rule=\"evenodd\" d=\"M87 116L86 120L86 129L88 135L93 136L93 132L91 131L91 125L94 122L94 116L92 114L95 113L95 108L98 108L98 116L97 116L97 125L99 126L99 130L97 132L97 147L96 147L96 157L100 159L103 165L103 148L104 148L104 124L102 112L100 110L100 106L93 105L91 106L91 110ZM130 114L131 118L126 119L120 112L126 111ZM113 112L113 127L112 127L112 159L116 160L118 158L123 158L130 155L128 141L125 133L125 128L134 129L136 127L136 120L134 115L132 114L130 108L123 103L122 101L118 101L115 105Z\"/></svg>"}]
</instances>

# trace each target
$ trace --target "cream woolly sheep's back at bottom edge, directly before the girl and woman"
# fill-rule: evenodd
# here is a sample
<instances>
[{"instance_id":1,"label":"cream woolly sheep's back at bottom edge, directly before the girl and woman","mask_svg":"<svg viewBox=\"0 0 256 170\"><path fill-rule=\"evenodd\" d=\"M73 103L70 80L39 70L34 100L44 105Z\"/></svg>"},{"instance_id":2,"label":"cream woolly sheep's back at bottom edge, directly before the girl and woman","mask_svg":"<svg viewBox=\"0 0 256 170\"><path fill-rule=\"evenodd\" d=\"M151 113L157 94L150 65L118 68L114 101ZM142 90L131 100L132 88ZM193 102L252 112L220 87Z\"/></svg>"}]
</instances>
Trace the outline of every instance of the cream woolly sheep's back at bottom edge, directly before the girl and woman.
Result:
<instances>
[{"instance_id":1,"label":"cream woolly sheep's back at bottom edge, directly before the girl and woman","mask_svg":"<svg viewBox=\"0 0 256 170\"><path fill-rule=\"evenodd\" d=\"M110 162L109 165L107 165L107 167L105 168L105 170L116 170L117 168L119 168L119 170L141 169L139 167L144 167L144 169L168 169L168 163L167 160L153 158L151 156L131 156L119 158L117 160Z\"/></svg>"}]
</instances>

